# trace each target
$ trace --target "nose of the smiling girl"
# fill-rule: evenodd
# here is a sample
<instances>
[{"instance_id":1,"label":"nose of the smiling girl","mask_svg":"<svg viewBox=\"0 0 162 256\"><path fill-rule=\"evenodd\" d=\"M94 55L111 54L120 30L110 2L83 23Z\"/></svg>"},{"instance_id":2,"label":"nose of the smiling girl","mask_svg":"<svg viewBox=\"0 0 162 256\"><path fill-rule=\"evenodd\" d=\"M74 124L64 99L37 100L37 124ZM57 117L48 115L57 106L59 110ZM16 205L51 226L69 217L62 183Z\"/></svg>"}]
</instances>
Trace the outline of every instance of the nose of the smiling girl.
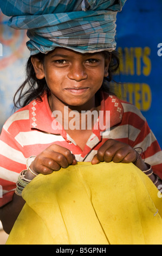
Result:
<instances>
[{"instance_id":1,"label":"nose of the smiling girl","mask_svg":"<svg viewBox=\"0 0 162 256\"><path fill-rule=\"evenodd\" d=\"M87 73L85 66L83 66L81 63L74 63L72 66L70 66L69 72L68 72L68 78L71 80L75 80L77 82L86 80L87 79Z\"/></svg>"}]
</instances>

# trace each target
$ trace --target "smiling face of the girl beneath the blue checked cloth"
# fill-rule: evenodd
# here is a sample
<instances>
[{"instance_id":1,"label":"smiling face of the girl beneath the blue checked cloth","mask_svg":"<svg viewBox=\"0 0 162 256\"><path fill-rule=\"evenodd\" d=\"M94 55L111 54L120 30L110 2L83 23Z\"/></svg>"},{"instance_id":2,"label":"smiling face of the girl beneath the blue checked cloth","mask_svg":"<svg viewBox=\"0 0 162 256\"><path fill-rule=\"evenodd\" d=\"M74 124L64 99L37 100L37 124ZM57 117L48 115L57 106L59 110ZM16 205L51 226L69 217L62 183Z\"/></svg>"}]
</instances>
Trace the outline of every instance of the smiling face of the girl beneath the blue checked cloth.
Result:
<instances>
[{"instance_id":1,"label":"smiling face of the girl beneath the blue checked cloth","mask_svg":"<svg viewBox=\"0 0 162 256\"><path fill-rule=\"evenodd\" d=\"M94 107L91 105L95 93L101 87L103 77L108 76L109 60L100 52L81 54L57 47L45 56L43 64L36 58L32 63L36 77L46 78L55 108L58 104Z\"/></svg>"}]
</instances>

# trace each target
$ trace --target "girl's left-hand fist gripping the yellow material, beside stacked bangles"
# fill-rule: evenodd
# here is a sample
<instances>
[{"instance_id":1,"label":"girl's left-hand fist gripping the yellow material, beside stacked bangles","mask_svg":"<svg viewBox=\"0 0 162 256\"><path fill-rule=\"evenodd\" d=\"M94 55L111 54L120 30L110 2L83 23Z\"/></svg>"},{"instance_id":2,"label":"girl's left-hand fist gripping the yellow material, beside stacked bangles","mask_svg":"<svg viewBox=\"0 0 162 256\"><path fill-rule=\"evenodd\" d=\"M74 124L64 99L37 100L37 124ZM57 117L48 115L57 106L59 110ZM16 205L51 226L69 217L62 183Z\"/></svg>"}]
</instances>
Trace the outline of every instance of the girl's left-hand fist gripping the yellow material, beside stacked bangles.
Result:
<instances>
[{"instance_id":1,"label":"girl's left-hand fist gripping the yellow material, beside stacked bangles","mask_svg":"<svg viewBox=\"0 0 162 256\"><path fill-rule=\"evenodd\" d=\"M60 168L66 168L70 164L76 164L75 156L69 149L52 144L36 156L30 164L30 169L35 173L50 174Z\"/></svg>"}]
</instances>

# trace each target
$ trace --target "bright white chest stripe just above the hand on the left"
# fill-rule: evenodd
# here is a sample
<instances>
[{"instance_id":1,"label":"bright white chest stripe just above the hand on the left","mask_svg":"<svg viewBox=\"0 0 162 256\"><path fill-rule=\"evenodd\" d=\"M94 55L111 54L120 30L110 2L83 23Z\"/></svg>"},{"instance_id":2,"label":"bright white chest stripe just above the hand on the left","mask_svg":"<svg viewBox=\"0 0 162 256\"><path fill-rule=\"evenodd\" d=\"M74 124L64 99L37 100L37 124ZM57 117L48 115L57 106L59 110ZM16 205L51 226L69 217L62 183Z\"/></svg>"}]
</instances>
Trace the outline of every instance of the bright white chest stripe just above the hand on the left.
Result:
<instances>
[{"instance_id":1,"label":"bright white chest stripe just above the hand on the left","mask_svg":"<svg viewBox=\"0 0 162 256\"><path fill-rule=\"evenodd\" d=\"M20 132L15 137L20 145L48 144L57 141L65 141L61 135L54 135L41 131Z\"/></svg>"}]
</instances>

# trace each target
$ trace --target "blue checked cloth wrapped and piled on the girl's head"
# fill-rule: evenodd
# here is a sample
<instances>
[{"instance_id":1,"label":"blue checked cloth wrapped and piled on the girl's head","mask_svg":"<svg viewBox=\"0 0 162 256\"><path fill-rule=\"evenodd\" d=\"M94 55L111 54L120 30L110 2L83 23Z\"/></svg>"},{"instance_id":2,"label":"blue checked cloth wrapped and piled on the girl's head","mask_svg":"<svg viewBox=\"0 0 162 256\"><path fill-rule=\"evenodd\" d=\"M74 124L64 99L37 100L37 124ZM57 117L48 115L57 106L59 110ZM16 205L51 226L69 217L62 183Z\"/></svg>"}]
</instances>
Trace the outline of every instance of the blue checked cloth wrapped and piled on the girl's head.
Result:
<instances>
[{"instance_id":1,"label":"blue checked cloth wrapped and piled on the girl's head","mask_svg":"<svg viewBox=\"0 0 162 256\"><path fill-rule=\"evenodd\" d=\"M126 0L0 0L9 26L27 29L30 54L55 47L77 52L113 51L116 14Z\"/></svg>"}]
</instances>

